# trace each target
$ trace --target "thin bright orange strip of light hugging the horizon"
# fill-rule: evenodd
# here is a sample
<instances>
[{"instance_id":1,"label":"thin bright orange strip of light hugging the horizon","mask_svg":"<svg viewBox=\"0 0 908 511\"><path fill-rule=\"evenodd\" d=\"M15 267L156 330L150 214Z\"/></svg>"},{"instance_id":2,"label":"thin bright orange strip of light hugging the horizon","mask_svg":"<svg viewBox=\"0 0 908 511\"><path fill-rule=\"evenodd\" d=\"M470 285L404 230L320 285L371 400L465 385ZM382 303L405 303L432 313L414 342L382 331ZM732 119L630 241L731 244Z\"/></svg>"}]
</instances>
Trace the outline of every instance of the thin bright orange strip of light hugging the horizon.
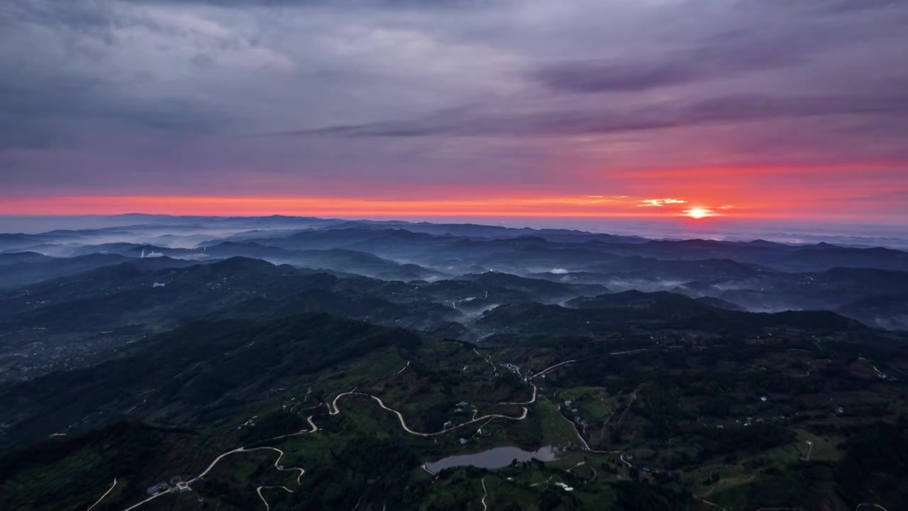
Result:
<instances>
[{"instance_id":1,"label":"thin bright orange strip of light hugging the horizon","mask_svg":"<svg viewBox=\"0 0 908 511\"><path fill-rule=\"evenodd\" d=\"M459 197L431 198L232 195L83 195L0 196L0 215L152 215L267 216L301 215L341 218L419 217L577 217L739 219L851 218L848 205L831 198L804 201L803 196L775 196L773 201L733 193L700 190L697 195L483 195L488 189ZM723 197L718 199L716 197ZM762 202L754 202L761 200ZM729 204L731 203L731 204Z\"/></svg>"}]
</instances>

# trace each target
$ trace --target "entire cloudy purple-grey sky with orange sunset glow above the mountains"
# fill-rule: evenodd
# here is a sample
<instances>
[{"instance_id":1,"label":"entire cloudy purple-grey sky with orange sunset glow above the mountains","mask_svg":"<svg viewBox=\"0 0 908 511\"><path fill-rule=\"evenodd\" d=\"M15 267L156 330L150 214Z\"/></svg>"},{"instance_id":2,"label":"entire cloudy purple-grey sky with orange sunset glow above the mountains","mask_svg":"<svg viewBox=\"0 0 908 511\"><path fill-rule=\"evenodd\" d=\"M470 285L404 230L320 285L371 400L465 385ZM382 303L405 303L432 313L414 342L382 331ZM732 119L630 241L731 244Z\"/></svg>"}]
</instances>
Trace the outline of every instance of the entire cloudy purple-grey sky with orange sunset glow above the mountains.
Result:
<instances>
[{"instance_id":1,"label":"entire cloudy purple-grey sky with orange sunset glow above the mountains","mask_svg":"<svg viewBox=\"0 0 908 511\"><path fill-rule=\"evenodd\" d=\"M903 0L4 0L0 215L908 225Z\"/></svg>"}]
</instances>

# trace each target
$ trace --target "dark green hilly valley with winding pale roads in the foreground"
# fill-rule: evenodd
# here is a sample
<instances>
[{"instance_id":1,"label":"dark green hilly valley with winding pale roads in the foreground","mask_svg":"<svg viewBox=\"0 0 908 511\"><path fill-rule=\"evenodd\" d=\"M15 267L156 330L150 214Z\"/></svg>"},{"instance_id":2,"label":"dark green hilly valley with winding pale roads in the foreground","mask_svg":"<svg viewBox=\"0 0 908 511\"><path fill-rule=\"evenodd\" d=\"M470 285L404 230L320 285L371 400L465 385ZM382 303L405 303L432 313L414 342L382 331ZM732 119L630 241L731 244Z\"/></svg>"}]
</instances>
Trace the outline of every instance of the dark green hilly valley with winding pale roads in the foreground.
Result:
<instances>
[{"instance_id":1,"label":"dark green hilly valley with winding pale roads in the foreground","mask_svg":"<svg viewBox=\"0 0 908 511\"><path fill-rule=\"evenodd\" d=\"M350 245L333 232L346 228L303 233L321 250ZM300 248L284 235L272 243ZM708 302L685 294L704 289L695 280L622 289L629 281L587 270L626 255L539 251L543 238L457 239L476 258L453 264L450 236L390 235L376 241L382 261L394 261L391 245L427 250L401 237L448 247L419 260L431 281L163 255L0 293L0 499L36 511L906 502L905 333L828 309ZM508 259L501 246L522 248ZM518 273L479 270L490 255ZM540 277L534 258L576 271ZM636 271L662 271L646 265ZM727 269L737 264L713 265L672 271L708 286L742 278ZM857 266L744 271L869 294L901 278Z\"/></svg>"}]
</instances>

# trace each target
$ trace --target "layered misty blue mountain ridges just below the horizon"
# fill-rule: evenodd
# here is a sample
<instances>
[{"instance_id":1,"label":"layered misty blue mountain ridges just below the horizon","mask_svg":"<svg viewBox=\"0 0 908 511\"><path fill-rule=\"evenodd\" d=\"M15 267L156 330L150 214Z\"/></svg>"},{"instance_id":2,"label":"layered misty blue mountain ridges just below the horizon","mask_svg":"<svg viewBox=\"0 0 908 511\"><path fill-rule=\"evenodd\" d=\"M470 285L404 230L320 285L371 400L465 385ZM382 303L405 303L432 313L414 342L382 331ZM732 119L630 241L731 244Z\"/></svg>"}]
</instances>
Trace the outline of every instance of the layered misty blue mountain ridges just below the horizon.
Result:
<instances>
[{"instance_id":1,"label":"layered misty blue mountain ridges just below the horizon","mask_svg":"<svg viewBox=\"0 0 908 511\"><path fill-rule=\"evenodd\" d=\"M122 218L125 225L0 236L0 251L6 250L0 253L0 288L12 290L140 260L137 267L153 270L241 256L295 266L302 272L369 276L413 286L442 282L419 292L403 287L392 291L398 286L393 285L379 293L387 293L380 297L391 303L418 297L467 315L492 306L560 303L607 290L638 290L676 292L703 303L755 312L836 310L874 325L889 325L881 321L884 318L849 305L898 294L908 285L908 254L888 248L648 240L569 229L280 215ZM174 245L158 243L164 241ZM141 259L143 253L163 256ZM486 275L489 270L495 273ZM473 285L453 282L462 280ZM477 286L486 287L474 290ZM375 285L367 287L367 292L374 292ZM401 298L408 294L413 297ZM16 307L11 310L22 310ZM885 310L901 314L898 307Z\"/></svg>"}]
</instances>

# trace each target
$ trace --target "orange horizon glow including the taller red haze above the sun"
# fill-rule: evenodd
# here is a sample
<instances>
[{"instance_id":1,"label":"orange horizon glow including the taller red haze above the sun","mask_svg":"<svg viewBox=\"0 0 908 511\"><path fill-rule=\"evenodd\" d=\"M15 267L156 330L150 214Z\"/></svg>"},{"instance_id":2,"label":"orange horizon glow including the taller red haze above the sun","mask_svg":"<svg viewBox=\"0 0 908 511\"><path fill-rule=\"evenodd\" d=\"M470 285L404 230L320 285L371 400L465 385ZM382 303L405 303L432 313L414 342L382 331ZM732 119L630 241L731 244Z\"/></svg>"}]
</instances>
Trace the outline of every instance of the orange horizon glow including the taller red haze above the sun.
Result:
<instances>
[{"instance_id":1,"label":"orange horizon glow including the taller red haze above the sun","mask_svg":"<svg viewBox=\"0 0 908 511\"><path fill-rule=\"evenodd\" d=\"M855 168L868 169L855 173ZM581 170L585 187L548 185L391 187L384 196L330 195L0 195L0 215L311 215L334 217L640 217L887 221L900 215L893 175L903 165L656 167ZM601 177L599 177L601 175ZM617 175L617 177L616 177ZM609 177L613 176L613 177ZM820 176L826 186L815 186ZM843 181L846 179L846 181ZM847 182L847 187L842 183ZM289 188L292 189L292 188ZM341 188L347 189L347 188ZM385 189L385 188L382 188ZM350 193L360 193L360 188ZM365 188L365 193L382 193ZM612 192L609 194L608 192ZM904 190L908 193L908 189ZM8 192L7 192L8 193ZM265 194L268 194L266 192ZM881 197L876 199L875 197Z\"/></svg>"}]
</instances>

